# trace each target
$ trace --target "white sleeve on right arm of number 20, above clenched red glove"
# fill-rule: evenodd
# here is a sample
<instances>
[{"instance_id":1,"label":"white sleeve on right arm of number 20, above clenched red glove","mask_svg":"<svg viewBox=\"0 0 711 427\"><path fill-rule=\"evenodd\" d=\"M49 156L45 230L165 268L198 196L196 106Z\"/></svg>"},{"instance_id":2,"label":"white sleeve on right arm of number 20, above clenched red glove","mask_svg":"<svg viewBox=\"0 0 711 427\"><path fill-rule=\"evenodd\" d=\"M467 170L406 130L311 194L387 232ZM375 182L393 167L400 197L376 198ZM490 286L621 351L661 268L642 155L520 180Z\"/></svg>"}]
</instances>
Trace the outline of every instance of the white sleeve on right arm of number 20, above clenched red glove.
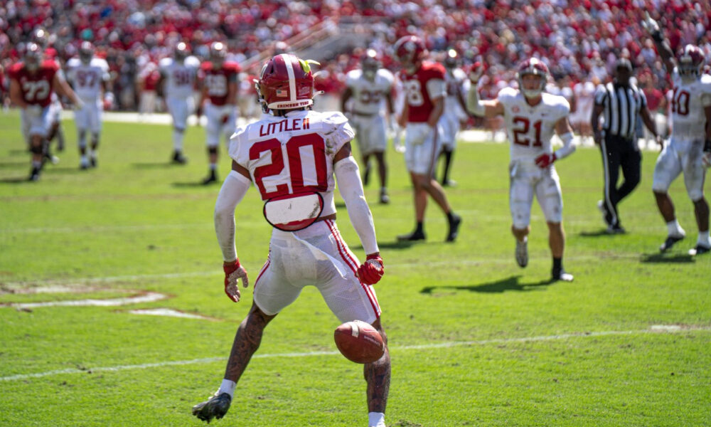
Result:
<instances>
[{"instance_id":1,"label":"white sleeve on right arm of number 20, above clenched red glove","mask_svg":"<svg viewBox=\"0 0 711 427\"><path fill-rule=\"evenodd\" d=\"M333 173L336 174L338 191L341 192L341 197L346 202L348 217L351 218L355 233L358 233L363 250L366 254L378 252L373 214L370 213L368 202L365 201L358 163L355 162L353 156L348 156L333 165Z\"/></svg>"}]
</instances>

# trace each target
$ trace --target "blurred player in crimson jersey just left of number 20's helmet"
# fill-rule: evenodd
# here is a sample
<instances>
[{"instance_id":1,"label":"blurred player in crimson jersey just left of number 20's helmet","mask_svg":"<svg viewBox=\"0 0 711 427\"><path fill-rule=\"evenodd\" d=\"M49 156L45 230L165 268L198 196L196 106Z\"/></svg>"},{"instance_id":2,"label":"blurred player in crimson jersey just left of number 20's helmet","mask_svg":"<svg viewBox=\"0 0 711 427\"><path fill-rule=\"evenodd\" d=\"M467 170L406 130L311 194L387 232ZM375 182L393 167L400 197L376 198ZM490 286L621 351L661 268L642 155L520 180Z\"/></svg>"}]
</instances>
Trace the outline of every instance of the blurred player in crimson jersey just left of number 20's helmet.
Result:
<instances>
[{"instance_id":1,"label":"blurred player in crimson jersey just left of number 20's helmet","mask_svg":"<svg viewBox=\"0 0 711 427\"><path fill-rule=\"evenodd\" d=\"M198 102L198 116L205 104L205 116L208 118L207 145L210 172L203 180L203 184L210 184L218 180L218 146L220 135L225 135L225 143L230 140L230 135L235 132L237 124L237 75L240 65L225 61L227 46L216 41L210 45L210 60L202 63L200 67L200 80L202 94Z\"/></svg>"}]
</instances>

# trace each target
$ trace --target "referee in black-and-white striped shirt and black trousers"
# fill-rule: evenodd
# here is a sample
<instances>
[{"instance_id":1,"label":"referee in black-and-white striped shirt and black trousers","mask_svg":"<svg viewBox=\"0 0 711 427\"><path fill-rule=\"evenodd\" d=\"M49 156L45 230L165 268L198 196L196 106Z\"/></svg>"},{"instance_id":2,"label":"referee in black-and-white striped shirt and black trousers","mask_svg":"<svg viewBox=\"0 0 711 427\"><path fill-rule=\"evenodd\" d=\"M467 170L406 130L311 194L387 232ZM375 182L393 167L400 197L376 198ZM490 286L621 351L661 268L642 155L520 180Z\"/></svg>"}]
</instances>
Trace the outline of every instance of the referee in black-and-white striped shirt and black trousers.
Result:
<instances>
[{"instance_id":1,"label":"referee in black-and-white striped shirt and black trousers","mask_svg":"<svg viewBox=\"0 0 711 427\"><path fill-rule=\"evenodd\" d=\"M595 144L602 152L604 172L604 199L597 203L604 215L609 234L624 233L617 214L617 204L639 184L642 156L636 138L636 121L640 118L649 132L661 145L654 120L647 107L642 90L630 82L632 63L619 58L615 63L614 80L598 85L595 90L595 105L590 122L594 130ZM602 130L599 118L602 115ZM619 169L624 181L617 186Z\"/></svg>"}]
</instances>

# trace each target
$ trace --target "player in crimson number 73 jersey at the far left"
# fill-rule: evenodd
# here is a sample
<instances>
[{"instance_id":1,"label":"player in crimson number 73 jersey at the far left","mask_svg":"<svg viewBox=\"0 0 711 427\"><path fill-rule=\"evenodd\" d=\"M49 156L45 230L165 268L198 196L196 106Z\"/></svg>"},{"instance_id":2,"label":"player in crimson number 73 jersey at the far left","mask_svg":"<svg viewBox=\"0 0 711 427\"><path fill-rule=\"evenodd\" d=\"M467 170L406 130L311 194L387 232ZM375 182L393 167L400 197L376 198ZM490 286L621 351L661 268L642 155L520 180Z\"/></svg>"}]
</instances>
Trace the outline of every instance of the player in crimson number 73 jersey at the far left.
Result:
<instances>
[{"instance_id":1,"label":"player in crimson number 73 jersey at the far left","mask_svg":"<svg viewBox=\"0 0 711 427\"><path fill-rule=\"evenodd\" d=\"M42 159L48 149L48 135L52 126L50 105L56 91L68 97L75 107L82 101L59 72L59 65L43 60L42 50L36 43L28 43L23 61L9 69L10 100L22 109L22 133L32 152L32 169L29 179L40 177Z\"/></svg>"}]
</instances>

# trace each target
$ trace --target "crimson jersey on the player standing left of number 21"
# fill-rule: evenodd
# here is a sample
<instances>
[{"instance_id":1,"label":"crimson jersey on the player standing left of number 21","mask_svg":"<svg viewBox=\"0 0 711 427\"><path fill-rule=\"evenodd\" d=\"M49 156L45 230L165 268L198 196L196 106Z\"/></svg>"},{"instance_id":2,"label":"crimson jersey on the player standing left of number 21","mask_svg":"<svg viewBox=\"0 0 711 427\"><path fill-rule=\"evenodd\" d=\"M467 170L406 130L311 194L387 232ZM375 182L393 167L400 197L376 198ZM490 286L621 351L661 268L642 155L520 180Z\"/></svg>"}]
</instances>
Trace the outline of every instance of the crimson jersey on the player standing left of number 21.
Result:
<instances>
[{"instance_id":1,"label":"crimson jersey on the player standing left of number 21","mask_svg":"<svg viewBox=\"0 0 711 427\"><path fill-rule=\"evenodd\" d=\"M405 70L400 71L405 102L409 106L407 122L427 122L434 109L432 98L447 95L444 73L444 65L429 61L422 62L422 66L414 74L407 74Z\"/></svg>"}]
</instances>

